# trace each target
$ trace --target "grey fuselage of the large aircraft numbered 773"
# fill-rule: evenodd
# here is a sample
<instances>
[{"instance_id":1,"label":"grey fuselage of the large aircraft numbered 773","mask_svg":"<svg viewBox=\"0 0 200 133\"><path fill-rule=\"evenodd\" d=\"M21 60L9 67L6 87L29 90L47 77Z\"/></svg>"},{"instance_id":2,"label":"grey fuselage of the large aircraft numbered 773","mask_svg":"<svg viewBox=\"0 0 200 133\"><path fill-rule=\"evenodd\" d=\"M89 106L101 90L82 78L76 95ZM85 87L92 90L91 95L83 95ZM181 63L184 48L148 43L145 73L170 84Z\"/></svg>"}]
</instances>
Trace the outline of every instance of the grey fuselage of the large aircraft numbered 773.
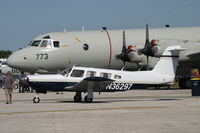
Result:
<instances>
[{"instance_id":1,"label":"grey fuselage of the large aircraft numbered 773","mask_svg":"<svg viewBox=\"0 0 200 133\"><path fill-rule=\"evenodd\" d=\"M144 47L145 30L125 30L127 45ZM81 65L98 68L121 69L123 61L116 59L116 55L122 50L122 30L81 31L81 32L55 32L36 37L34 40L42 40L49 36L50 39L59 41L59 47L35 47L28 46L15 52L8 58L8 65L16 69L28 72L50 72ZM200 59L188 57L191 53L200 52L200 27L192 28L162 28L150 29L150 38L158 41L159 52L167 46L181 45L188 50L180 55L180 61L198 62ZM178 43L178 44L177 44ZM146 56L136 58L139 63L126 63L127 68L138 70L146 64ZM150 59L150 67L153 68L158 59Z\"/></svg>"}]
</instances>

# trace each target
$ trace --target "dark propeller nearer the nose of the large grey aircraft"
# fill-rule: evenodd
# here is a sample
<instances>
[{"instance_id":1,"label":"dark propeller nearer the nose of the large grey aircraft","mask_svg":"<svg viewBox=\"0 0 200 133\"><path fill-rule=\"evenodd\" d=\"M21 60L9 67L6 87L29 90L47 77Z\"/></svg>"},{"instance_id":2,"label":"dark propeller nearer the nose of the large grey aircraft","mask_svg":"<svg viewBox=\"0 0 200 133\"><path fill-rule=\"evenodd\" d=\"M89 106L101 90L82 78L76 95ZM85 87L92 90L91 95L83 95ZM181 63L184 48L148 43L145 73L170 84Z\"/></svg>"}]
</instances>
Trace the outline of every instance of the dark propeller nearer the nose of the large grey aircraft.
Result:
<instances>
[{"instance_id":1,"label":"dark propeller nearer the nose of the large grey aircraft","mask_svg":"<svg viewBox=\"0 0 200 133\"><path fill-rule=\"evenodd\" d=\"M129 61L128 57L128 49L126 48L126 37L125 37L125 31L123 30L123 36L122 36L122 52L119 55L116 55L116 58L122 60L124 62L124 66L126 65L126 61Z\"/></svg>"}]
</instances>

